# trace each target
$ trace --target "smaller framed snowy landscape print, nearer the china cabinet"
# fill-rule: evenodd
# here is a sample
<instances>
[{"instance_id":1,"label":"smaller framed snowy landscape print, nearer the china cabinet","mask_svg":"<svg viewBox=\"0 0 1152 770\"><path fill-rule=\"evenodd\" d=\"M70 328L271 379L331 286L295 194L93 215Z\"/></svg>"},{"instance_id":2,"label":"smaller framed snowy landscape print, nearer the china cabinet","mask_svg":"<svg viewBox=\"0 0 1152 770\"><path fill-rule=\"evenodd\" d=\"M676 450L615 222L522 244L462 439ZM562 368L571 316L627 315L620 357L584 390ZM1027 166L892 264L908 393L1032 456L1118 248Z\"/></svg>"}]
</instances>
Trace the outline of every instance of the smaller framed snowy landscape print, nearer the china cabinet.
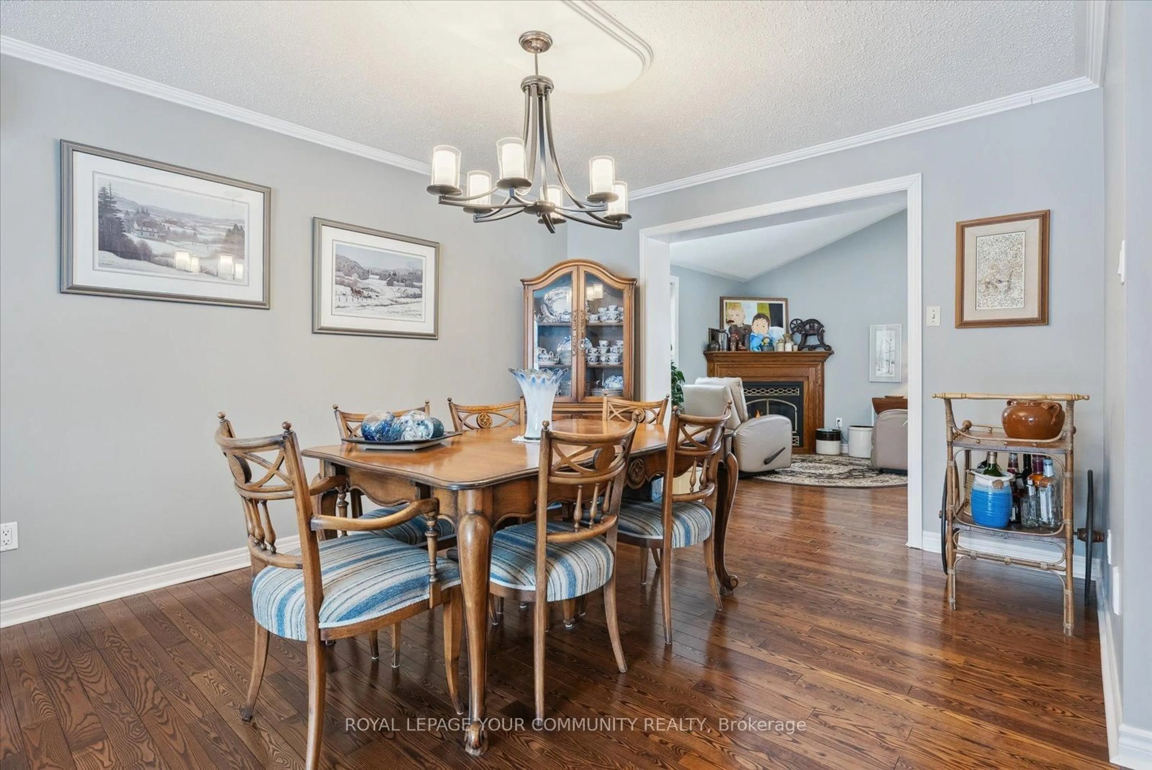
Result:
<instances>
[{"instance_id":1,"label":"smaller framed snowy landscape print, nearer the china cabinet","mask_svg":"<svg viewBox=\"0 0 1152 770\"><path fill-rule=\"evenodd\" d=\"M312 220L312 331L437 339L440 244Z\"/></svg>"}]
</instances>

